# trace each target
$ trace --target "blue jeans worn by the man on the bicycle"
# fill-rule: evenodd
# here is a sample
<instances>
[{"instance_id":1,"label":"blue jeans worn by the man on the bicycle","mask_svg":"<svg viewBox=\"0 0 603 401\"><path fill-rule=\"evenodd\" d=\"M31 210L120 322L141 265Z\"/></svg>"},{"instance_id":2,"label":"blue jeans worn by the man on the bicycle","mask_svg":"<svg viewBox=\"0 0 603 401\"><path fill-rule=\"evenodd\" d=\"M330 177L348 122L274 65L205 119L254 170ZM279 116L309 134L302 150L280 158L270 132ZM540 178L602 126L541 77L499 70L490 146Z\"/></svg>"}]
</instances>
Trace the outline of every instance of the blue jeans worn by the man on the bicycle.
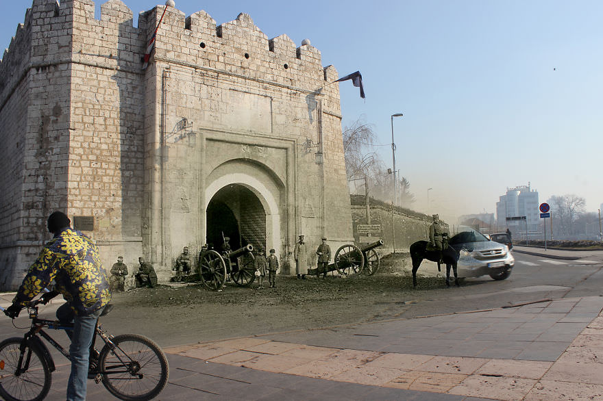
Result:
<instances>
[{"instance_id":1,"label":"blue jeans worn by the man on the bicycle","mask_svg":"<svg viewBox=\"0 0 603 401\"><path fill-rule=\"evenodd\" d=\"M67 401L86 400L90 346L95 334L97 320L99 320L103 309L104 307L89 315L75 315L69 304L61 305L57 309L56 315L60 322L73 322L73 331L66 331L69 338L71 338L71 346L69 346L71 374L69 375L69 383L67 383Z\"/></svg>"}]
</instances>

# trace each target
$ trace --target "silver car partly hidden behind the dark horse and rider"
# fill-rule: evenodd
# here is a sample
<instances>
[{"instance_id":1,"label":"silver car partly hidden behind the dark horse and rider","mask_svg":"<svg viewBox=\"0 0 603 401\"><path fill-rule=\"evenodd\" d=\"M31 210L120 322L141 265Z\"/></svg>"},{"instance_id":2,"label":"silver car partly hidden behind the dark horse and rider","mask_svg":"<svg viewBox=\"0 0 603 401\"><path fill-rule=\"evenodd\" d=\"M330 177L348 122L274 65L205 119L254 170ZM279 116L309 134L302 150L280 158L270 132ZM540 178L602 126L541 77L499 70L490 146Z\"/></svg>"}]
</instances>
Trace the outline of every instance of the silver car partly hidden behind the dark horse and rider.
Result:
<instances>
[{"instance_id":1,"label":"silver car partly hidden behind the dark horse and rider","mask_svg":"<svg viewBox=\"0 0 603 401\"><path fill-rule=\"evenodd\" d=\"M448 243L459 252L459 276L489 275L495 280L504 280L515 266L515 258L508 246L489 240L471 227L460 226L459 232Z\"/></svg>"}]
</instances>

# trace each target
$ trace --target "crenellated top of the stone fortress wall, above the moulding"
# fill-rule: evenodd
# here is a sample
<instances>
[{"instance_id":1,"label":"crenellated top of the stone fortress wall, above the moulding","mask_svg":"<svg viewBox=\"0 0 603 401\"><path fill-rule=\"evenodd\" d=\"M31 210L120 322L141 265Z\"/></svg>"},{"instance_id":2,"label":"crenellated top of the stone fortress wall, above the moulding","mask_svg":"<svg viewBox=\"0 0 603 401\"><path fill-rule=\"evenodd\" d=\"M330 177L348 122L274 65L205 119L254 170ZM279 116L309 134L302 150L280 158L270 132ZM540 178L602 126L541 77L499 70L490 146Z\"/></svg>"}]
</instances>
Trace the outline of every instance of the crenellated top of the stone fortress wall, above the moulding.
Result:
<instances>
[{"instance_id":1,"label":"crenellated top of the stone fortress wall, above the moulding","mask_svg":"<svg viewBox=\"0 0 603 401\"><path fill-rule=\"evenodd\" d=\"M147 41L166 7L140 12L134 27L132 10L121 0L103 3L98 20L92 0L34 0L0 60L0 107L29 68L70 61L143 73ZM321 65L318 49L310 44L296 47L286 34L269 39L244 13L217 25L205 11L187 17L168 8L153 57L310 92L337 78L332 66Z\"/></svg>"}]
</instances>

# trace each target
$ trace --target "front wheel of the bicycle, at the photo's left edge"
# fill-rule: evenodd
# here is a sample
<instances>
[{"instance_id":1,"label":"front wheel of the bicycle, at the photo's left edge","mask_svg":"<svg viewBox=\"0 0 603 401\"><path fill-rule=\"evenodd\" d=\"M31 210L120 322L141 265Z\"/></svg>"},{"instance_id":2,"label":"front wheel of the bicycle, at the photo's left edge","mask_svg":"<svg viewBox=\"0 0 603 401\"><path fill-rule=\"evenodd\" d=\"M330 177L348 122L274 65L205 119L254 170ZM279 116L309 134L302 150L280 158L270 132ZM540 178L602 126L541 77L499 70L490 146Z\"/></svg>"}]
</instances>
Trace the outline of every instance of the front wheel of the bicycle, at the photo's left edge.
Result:
<instances>
[{"instance_id":1,"label":"front wheel of the bicycle, at the photo's left edge","mask_svg":"<svg viewBox=\"0 0 603 401\"><path fill-rule=\"evenodd\" d=\"M50 368L37 348L25 346L23 338L12 337L0 343L0 396L8 401L42 400L52 381Z\"/></svg>"}]
</instances>

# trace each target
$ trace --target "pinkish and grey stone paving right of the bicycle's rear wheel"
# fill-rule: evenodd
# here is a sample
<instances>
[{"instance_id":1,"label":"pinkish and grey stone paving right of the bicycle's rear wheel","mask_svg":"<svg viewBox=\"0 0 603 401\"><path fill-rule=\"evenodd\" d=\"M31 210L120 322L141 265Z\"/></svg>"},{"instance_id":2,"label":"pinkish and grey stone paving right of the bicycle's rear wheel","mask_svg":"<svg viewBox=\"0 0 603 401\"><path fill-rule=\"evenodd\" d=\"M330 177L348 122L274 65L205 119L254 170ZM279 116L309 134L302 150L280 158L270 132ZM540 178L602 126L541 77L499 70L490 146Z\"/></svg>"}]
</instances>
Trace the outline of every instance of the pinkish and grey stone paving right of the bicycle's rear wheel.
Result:
<instances>
[{"instance_id":1,"label":"pinkish and grey stone paving right of the bicycle's rear wheel","mask_svg":"<svg viewBox=\"0 0 603 401\"><path fill-rule=\"evenodd\" d=\"M217 341L172 348L167 352L192 358L207 355L206 362L212 365L215 361L223 361L233 367L261 371L258 373L260 376L276 374L281 378L291 376L391 391L419 391L417 394L421 396L454 395L463 400L580 400L601 396L603 297L545 304L542 308L532 308L534 313L518 311L521 308L517 308L473 315L395 320L325 331ZM558 304L562 304L561 307ZM593 318L587 321L580 316L581 320L571 320L574 313L591 313ZM482 319L476 320L476 315ZM561 322L563 319L566 321ZM504 333L497 333L497 324ZM423 334L454 333L463 328L468 337L465 341L451 339L447 344L436 345L434 339L428 338L430 336L416 336L419 327ZM489 338L495 341L476 340L477 335L480 338L490 335ZM549 337L558 340L563 337L563 340L548 341ZM358 348L350 346L350 339ZM441 344L441 340L436 340L438 342ZM345 348L341 348L343 344ZM208 353L211 349L232 352L230 356L220 354L211 357ZM435 352L421 352L428 349ZM486 357L489 353L491 357ZM303 381L297 385L301 383ZM277 399L285 394L288 395L282 390L265 399ZM352 393L350 399L365 399L366 394ZM371 399L391 399L380 398L377 394ZM304 396L315 399L312 394L304 393ZM323 399L330 397L336 399L337 394L325 394ZM293 396L293 399L297 398ZM402 399L413 398L404 393Z\"/></svg>"}]
</instances>

